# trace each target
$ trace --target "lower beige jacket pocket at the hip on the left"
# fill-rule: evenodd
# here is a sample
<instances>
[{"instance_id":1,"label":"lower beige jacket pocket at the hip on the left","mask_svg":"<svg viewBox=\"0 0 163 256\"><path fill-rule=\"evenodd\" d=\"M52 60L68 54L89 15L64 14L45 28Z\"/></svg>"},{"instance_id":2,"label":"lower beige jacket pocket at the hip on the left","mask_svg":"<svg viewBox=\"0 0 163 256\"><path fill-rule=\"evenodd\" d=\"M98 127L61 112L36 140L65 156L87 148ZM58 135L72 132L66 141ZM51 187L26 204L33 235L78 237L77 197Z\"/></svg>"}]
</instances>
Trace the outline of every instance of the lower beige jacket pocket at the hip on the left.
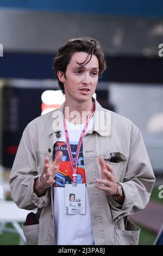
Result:
<instances>
[{"instance_id":1,"label":"lower beige jacket pocket at the hip on the left","mask_svg":"<svg viewBox=\"0 0 163 256\"><path fill-rule=\"evenodd\" d=\"M39 224L22 225L27 245L37 245L39 239Z\"/></svg>"}]
</instances>

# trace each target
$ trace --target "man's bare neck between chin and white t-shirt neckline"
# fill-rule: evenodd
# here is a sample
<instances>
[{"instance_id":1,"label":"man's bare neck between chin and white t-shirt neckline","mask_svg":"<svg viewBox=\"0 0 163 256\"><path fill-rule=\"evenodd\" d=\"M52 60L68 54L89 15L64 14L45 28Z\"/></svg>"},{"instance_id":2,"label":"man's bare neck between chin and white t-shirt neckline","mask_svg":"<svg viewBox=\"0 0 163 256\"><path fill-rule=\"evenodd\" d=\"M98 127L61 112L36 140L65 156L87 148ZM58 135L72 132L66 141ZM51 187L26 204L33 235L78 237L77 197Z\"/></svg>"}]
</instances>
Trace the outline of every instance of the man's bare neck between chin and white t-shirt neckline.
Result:
<instances>
[{"instance_id":1,"label":"man's bare neck between chin and white t-shirt neckline","mask_svg":"<svg viewBox=\"0 0 163 256\"><path fill-rule=\"evenodd\" d=\"M67 121L74 124L83 124L92 109L92 99L89 102L77 102L71 106L65 101L65 116Z\"/></svg>"}]
</instances>

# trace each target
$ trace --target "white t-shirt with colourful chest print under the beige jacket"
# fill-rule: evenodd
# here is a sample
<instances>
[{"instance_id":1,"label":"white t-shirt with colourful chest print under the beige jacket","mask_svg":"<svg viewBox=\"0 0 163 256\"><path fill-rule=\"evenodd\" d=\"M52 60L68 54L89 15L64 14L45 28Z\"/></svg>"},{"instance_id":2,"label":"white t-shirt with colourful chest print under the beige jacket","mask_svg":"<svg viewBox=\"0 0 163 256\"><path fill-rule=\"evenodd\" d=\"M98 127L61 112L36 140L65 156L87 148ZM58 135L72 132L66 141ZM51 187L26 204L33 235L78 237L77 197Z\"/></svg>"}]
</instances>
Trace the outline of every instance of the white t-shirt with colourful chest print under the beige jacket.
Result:
<instances>
[{"instance_id":1,"label":"white t-shirt with colourful chest print under the beige jacket","mask_svg":"<svg viewBox=\"0 0 163 256\"><path fill-rule=\"evenodd\" d=\"M92 129L94 119L90 120L87 131ZM76 149L80 134L84 127L82 125L74 125L66 121L68 129L68 138L71 144L71 150L74 157L76 156ZM62 121L61 137L54 145L54 158L62 151L62 161L60 162L59 171L56 175L54 186L54 222L55 222L55 245L95 245L92 231L91 214L89 199L86 190L86 214L65 214L65 184L72 183L72 168L70 159L68 157L64 122ZM85 167L83 161L83 144L80 148L77 169L77 183L86 183Z\"/></svg>"}]
</instances>

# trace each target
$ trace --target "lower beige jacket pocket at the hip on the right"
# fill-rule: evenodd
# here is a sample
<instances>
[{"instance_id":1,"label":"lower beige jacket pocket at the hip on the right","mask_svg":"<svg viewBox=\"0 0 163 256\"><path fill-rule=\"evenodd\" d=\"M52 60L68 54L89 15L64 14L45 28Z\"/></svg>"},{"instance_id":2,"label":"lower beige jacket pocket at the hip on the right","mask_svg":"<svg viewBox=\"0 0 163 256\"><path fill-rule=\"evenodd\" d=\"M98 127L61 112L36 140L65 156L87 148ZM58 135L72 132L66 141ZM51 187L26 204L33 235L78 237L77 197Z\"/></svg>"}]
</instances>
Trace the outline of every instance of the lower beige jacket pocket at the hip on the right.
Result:
<instances>
[{"instance_id":1,"label":"lower beige jacket pocket at the hip on the right","mask_svg":"<svg viewBox=\"0 0 163 256\"><path fill-rule=\"evenodd\" d=\"M115 245L138 245L140 228L127 219L126 230L114 229Z\"/></svg>"}]
</instances>

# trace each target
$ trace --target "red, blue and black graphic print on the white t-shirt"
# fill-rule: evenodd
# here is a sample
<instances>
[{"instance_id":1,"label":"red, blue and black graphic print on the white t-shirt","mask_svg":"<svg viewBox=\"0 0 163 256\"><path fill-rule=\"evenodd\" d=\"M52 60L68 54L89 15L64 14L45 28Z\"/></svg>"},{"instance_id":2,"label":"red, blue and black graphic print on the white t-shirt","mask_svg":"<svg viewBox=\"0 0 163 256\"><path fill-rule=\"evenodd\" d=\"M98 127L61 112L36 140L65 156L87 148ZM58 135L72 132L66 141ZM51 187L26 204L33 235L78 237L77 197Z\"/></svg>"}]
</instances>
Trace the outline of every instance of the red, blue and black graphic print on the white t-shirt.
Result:
<instances>
[{"instance_id":1,"label":"red, blue and black graphic print on the white t-shirt","mask_svg":"<svg viewBox=\"0 0 163 256\"><path fill-rule=\"evenodd\" d=\"M76 157L76 151L78 142L70 142L71 144L71 151L73 156L73 161ZM65 187L65 184L72 184L73 178L72 178L72 167L70 163L70 159L68 156L67 151L67 144L66 142L60 142L58 141L54 145L54 151L53 151L53 158L58 154L58 151L62 151L62 161L59 165L59 170L57 172L57 175L55 176L55 183L54 187ZM83 144L80 147L80 153L78 158L78 169L77 169L77 183L86 183L85 179L85 167L84 167L84 161L83 161Z\"/></svg>"}]
</instances>

